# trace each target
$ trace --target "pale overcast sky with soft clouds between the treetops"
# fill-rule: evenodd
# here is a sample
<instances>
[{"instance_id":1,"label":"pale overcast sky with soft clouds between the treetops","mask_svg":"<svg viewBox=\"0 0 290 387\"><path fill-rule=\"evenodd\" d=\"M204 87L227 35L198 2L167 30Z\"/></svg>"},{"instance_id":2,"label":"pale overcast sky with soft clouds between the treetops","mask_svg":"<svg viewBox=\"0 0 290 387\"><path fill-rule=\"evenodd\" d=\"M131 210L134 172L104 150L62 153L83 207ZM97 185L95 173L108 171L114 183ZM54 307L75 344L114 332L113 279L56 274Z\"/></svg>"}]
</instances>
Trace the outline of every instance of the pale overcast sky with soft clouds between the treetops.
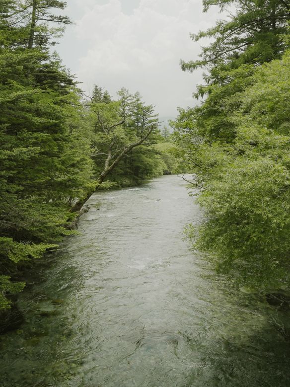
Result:
<instances>
[{"instance_id":1,"label":"pale overcast sky with soft clouds between the treetops","mask_svg":"<svg viewBox=\"0 0 290 387\"><path fill-rule=\"evenodd\" d=\"M184 73L179 61L195 60L201 43L190 32L212 26L218 9L202 12L202 0L68 0L67 28L56 50L90 93L93 84L111 95L139 91L160 117L176 116L192 98L202 72Z\"/></svg>"}]
</instances>

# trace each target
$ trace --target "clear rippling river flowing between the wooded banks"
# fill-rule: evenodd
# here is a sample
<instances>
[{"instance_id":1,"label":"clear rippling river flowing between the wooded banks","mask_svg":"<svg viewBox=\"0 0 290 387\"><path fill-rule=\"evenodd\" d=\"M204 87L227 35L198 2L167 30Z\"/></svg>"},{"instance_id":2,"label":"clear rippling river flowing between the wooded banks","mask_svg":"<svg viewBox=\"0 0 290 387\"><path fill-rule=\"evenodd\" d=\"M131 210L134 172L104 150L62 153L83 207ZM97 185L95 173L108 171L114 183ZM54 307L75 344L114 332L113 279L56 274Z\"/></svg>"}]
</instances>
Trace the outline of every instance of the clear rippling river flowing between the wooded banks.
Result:
<instances>
[{"instance_id":1,"label":"clear rippling river flowing between the wooded banks","mask_svg":"<svg viewBox=\"0 0 290 387\"><path fill-rule=\"evenodd\" d=\"M1 387L287 387L290 312L190 250L177 176L97 192L0 338Z\"/></svg>"}]
</instances>

